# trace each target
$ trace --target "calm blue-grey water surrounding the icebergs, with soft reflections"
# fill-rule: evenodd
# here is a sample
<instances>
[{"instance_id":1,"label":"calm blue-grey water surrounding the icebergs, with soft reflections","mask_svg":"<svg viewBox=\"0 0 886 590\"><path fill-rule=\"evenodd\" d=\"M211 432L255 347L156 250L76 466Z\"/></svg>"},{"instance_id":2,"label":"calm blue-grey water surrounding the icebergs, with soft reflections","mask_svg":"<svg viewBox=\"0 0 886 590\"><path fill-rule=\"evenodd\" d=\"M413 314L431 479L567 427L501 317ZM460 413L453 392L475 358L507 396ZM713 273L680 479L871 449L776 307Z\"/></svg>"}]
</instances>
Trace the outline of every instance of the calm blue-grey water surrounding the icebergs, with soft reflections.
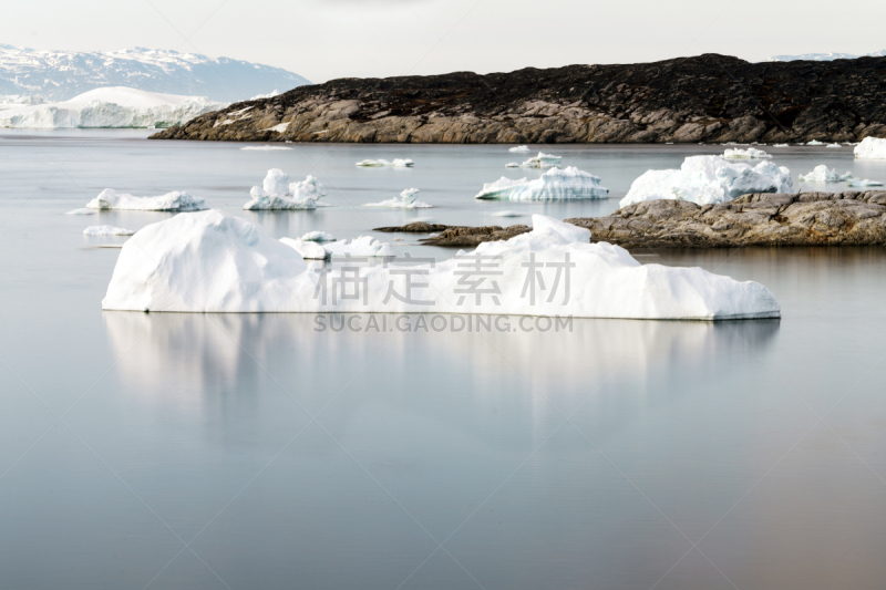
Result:
<instances>
[{"instance_id":1,"label":"calm blue-grey water surrounding the icebergs, with soft reflections","mask_svg":"<svg viewBox=\"0 0 886 590\"><path fill-rule=\"evenodd\" d=\"M278 237L617 208L475 201L537 174L497 146L144 135L0 136L0 588L883 588L885 249L638 252L760 281L781 321L316 333L306 315L103 313L119 250L96 246L123 239L83 228L168 217L62 215L104 187L185 189ZM721 149L550 151L620 197ZM886 180L849 148L771 152ZM270 167L318 176L337 207L239 211ZM412 186L437 208L356 207ZM414 241L398 247L452 253Z\"/></svg>"}]
</instances>

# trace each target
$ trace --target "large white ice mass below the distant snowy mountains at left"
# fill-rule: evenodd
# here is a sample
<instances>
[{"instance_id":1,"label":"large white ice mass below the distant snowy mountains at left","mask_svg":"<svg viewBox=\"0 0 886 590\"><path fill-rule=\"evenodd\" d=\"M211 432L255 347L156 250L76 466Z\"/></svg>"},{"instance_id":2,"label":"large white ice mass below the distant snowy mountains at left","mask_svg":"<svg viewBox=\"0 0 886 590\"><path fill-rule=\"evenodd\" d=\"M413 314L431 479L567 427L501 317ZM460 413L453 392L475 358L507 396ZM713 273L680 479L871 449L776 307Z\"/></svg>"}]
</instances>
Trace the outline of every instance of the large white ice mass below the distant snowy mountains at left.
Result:
<instances>
[{"instance_id":1,"label":"large white ice mass below the distant snowy mountains at left","mask_svg":"<svg viewBox=\"0 0 886 590\"><path fill-rule=\"evenodd\" d=\"M0 127L169 127L227 103L206 96L161 94L125 86L95 89L69 101L0 111Z\"/></svg>"}]
</instances>

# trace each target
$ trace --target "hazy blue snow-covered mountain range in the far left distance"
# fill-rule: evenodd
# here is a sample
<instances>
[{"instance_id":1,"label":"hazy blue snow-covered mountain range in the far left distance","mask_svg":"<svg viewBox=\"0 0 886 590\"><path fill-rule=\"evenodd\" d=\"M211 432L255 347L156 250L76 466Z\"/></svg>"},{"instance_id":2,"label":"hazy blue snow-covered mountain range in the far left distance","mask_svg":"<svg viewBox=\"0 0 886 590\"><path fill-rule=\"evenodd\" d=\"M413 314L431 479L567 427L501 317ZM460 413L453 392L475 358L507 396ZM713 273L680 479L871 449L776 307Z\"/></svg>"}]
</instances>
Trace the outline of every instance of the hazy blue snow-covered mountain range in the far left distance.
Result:
<instances>
[{"instance_id":1,"label":"hazy blue snow-covered mountain range in the far left distance","mask_svg":"<svg viewBox=\"0 0 886 590\"><path fill-rule=\"evenodd\" d=\"M66 101L97 87L245 101L256 94L310 84L282 70L199 53L131 48L120 51L43 51L0 44L0 94Z\"/></svg>"}]
</instances>

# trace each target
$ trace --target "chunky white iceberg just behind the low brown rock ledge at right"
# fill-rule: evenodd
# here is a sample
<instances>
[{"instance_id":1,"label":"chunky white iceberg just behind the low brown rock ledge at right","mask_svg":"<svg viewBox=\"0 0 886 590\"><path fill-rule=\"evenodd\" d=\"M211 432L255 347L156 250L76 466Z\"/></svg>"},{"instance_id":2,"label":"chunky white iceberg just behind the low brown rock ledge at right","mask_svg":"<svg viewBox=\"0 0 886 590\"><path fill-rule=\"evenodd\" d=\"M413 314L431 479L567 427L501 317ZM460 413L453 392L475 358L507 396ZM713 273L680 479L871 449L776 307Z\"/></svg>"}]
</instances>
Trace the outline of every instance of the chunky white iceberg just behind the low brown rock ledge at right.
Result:
<instances>
[{"instance_id":1,"label":"chunky white iceberg just behind the low brown rock ledge at right","mask_svg":"<svg viewBox=\"0 0 886 590\"><path fill-rule=\"evenodd\" d=\"M795 193L791 170L764 161L756 166L719 156L690 156L680 169L648 170L633 180L619 206L656 199L724 203L749 193Z\"/></svg>"}]
</instances>

